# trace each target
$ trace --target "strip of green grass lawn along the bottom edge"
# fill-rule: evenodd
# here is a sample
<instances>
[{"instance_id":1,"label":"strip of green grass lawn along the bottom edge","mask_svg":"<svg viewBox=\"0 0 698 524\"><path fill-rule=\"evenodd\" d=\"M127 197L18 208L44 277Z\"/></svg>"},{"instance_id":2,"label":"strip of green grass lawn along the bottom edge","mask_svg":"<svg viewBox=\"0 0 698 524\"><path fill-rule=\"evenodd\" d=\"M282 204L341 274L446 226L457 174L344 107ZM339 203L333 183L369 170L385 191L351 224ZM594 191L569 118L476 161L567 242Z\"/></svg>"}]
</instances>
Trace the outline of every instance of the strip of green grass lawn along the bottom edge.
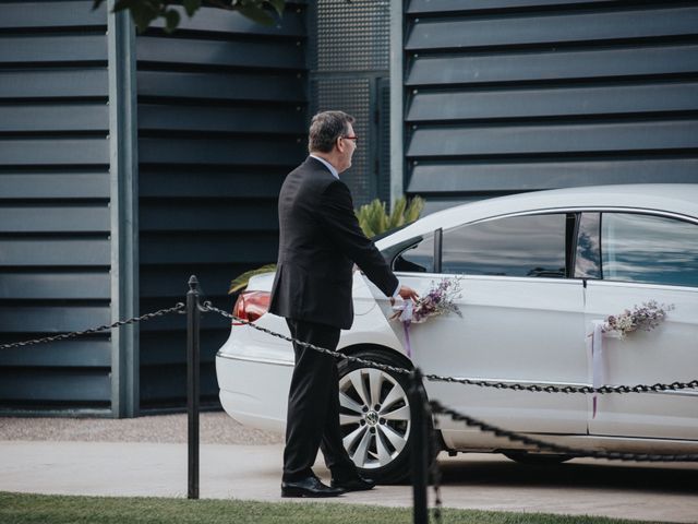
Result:
<instances>
[{"instance_id":1,"label":"strip of green grass lawn along the bottom edge","mask_svg":"<svg viewBox=\"0 0 698 524\"><path fill-rule=\"evenodd\" d=\"M324 502L62 497L0 492L1 524L409 524L410 508ZM444 510L444 524L630 524L639 521L542 513ZM642 524L648 524L643 521Z\"/></svg>"}]
</instances>

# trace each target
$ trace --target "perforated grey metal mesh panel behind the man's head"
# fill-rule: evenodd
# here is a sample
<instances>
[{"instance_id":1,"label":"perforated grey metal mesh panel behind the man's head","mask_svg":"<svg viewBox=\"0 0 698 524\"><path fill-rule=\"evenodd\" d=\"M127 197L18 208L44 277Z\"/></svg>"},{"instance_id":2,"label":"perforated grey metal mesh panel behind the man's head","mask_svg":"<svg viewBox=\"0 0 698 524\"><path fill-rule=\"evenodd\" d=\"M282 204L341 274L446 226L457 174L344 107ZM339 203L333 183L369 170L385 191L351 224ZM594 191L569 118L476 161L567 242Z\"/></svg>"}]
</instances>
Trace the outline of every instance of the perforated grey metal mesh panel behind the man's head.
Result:
<instances>
[{"instance_id":1,"label":"perforated grey metal mesh panel behind the man's head","mask_svg":"<svg viewBox=\"0 0 698 524\"><path fill-rule=\"evenodd\" d=\"M339 109L357 119L359 147L341 178L356 206L388 201L389 106L382 97L389 88L389 1L318 0L311 20L311 115Z\"/></svg>"}]
</instances>

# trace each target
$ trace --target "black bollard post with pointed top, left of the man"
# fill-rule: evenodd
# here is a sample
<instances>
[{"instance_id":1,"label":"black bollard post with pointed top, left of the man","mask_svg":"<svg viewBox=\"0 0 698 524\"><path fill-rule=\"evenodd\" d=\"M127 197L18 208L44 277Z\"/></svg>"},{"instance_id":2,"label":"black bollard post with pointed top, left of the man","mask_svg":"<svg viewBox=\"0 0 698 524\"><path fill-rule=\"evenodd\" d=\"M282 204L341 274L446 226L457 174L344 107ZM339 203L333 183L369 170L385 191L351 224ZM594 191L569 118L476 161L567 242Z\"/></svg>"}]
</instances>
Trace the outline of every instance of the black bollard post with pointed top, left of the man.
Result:
<instances>
[{"instance_id":1,"label":"black bollard post with pointed top, left of the man","mask_svg":"<svg viewBox=\"0 0 698 524\"><path fill-rule=\"evenodd\" d=\"M186 293L186 415L189 428L189 490L188 498L198 499L198 281L189 278Z\"/></svg>"}]
</instances>

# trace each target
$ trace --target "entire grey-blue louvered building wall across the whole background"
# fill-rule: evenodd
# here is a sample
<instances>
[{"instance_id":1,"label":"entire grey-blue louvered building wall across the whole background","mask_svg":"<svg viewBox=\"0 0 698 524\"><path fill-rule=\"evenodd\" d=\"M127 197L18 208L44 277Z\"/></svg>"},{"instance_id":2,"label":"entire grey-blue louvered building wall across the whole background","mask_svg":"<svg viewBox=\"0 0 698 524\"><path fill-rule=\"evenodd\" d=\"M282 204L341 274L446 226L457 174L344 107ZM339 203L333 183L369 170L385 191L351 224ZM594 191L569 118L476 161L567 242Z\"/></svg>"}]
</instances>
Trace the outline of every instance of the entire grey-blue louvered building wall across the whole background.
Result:
<instances>
[{"instance_id":1,"label":"entire grey-blue louvered building wall across the whole background","mask_svg":"<svg viewBox=\"0 0 698 524\"><path fill-rule=\"evenodd\" d=\"M3 342L106 324L121 311L113 48L106 11L91 7L0 0ZM305 155L309 90L312 111L359 117L346 175L356 203L385 198L387 159L400 153L383 127L388 27L405 29L405 96L393 119L406 172L394 177L428 210L554 187L698 182L697 1L411 0L404 24L390 24L389 9L289 2L280 28L204 9L173 36L155 28L136 38L142 313L181 300L192 273L230 306L229 281L276 259L276 198ZM143 324L141 408L182 405L183 326L173 315ZM227 334L225 321L204 319L202 391L212 401L213 357ZM99 335L3 350L0 410L122 416L122 343Z\"/></svg>"}]
</instances>

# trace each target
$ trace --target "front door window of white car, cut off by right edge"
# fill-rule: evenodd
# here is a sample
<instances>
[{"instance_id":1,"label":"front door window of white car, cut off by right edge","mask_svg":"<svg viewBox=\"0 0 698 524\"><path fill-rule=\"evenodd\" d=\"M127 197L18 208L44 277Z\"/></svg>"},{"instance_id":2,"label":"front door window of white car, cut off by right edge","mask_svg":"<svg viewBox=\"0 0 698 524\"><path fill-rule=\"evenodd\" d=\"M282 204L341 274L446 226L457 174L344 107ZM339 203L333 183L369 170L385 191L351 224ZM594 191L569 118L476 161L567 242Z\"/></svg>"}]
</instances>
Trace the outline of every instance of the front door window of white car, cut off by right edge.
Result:
<instances>
[{"instance_id":1,"label":"front door window of white car, cut off by right edge","mask_svg":"<svg viewBox=\"0 0 698 524\"><path fill-rule=\"evenodd\" d=\"M639 213L603 213L601 263L607 281L698 287L698 225Z\"/></svg>"}]
</instances>

